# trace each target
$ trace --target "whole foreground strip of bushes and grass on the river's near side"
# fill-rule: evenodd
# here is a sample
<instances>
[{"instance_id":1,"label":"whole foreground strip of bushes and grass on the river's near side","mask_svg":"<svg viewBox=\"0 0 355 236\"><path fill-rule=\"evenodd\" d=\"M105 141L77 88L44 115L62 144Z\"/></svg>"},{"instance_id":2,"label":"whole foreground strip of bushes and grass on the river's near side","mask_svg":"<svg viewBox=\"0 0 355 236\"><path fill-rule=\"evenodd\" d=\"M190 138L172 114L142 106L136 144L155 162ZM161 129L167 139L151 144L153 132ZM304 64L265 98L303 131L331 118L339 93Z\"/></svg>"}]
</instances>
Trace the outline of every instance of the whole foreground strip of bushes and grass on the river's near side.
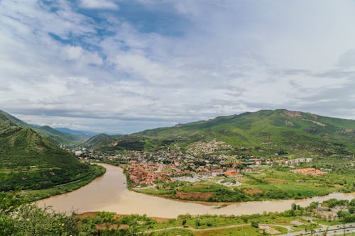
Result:
<instances>
[{"instance_id":1,"label":"whole foreground strip of bushes and grass on the river's near side","mask_svg":"<svg viewBox=\"0 0 355 236\"><path fill-rule=\"evenodd\" d=\"M330 199L302 208L293 204L283 213L241 216L180 215L175 219L108 212L65 215L28 203L19 192L0 193L0 235L275 235L312 232L322 225L355 222L355 199ZM339 210L341 209L341 210ZM335 212L332 217L323 213Z\"/></svg>"}]
</instances>

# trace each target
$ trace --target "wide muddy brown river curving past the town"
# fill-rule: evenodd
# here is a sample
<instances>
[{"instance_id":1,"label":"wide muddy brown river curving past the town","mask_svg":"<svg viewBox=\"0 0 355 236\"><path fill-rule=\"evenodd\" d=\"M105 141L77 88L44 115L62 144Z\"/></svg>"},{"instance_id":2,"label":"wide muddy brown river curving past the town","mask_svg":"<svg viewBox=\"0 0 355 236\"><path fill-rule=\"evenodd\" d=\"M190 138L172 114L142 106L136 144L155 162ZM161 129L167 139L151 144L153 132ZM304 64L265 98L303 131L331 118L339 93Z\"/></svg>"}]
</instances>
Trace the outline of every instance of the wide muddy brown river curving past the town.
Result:
<instances>
[{"instance_id":1,"label":"wide muddy brown river curving past the town","mask_svg":"<svg viewBox=\"0 0 355 236\"><path fill-rule=\"evenodd\" d=\"M326 201L330 198L352 199L355 193L332 193L328 196L302 200L275 200L232 203L224 208L205 206L193 202L173 201L170 199L148 196L129 191L126 188L126 176L123 169L109 164L101 164L107 169L106 174L91 183L70 193L45 198L38 201L38 206L52 206L54 210L70 213L92 211L111 211L119 214L146 214L151 217L176 218L180 214L223 214L246 215L253 213L276 212L290 209L292 203L307 206L312 201Z\"/></svg>"}]
</instances>

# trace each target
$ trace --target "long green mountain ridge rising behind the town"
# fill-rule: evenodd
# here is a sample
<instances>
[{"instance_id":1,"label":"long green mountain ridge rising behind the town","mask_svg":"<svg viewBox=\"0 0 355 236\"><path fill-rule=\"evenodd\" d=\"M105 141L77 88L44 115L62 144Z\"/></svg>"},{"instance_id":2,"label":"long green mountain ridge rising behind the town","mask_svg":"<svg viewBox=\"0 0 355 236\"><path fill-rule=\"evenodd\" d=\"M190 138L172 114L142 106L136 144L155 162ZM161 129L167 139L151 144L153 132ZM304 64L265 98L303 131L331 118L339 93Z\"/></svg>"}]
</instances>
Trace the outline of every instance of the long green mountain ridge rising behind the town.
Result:
<instances>
[{"instance_id":1,"label":"long green mountain ridge rising behind the town","mask_svg":"<svg viewBox=\"0 0 355 236\"><path fill-rule=\"evenodd\" d=\"M355 152L355 120L262 110L106 137L106 143L95 145L105 150L156 150L173 143L184 148L192 142L214 139L232 145L234 154L349 155Z\"/></svg>"}]
</instances>

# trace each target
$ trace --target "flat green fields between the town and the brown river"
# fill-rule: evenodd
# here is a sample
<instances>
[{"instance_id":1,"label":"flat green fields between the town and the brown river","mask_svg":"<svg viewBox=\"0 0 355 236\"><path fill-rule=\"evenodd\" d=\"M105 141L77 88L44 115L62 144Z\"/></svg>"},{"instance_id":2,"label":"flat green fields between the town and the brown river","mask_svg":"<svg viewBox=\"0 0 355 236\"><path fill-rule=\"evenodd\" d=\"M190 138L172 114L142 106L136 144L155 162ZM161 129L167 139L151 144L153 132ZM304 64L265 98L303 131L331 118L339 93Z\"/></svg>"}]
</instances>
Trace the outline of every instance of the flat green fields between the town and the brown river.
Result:
<instances>
[{"instance_id":1,"label":"flat green fields between the town and the brown river","mask_svg":"<svg viewBox=\"0 0 355 236\"><path fill-rule=\"evenodd\" d=\"M312 165L317 166L317 163L315 161ZM342 159L335 165L343 166ZM335 169L322 176L293 174L290 173L289 168L266 168L259 173L234 177L236 181L242 183L238 187L226 187L210 181L199 181L193 184L178 181L158 184L157 186L159 187L155 187L155 189L135 189L135 191L190 201L240 202L268 199L301 199L324 196L337 191L354 192L354 169L352 169L353 167L346 168L342 169L342 171Z\"/></svg>"}]
</instances>

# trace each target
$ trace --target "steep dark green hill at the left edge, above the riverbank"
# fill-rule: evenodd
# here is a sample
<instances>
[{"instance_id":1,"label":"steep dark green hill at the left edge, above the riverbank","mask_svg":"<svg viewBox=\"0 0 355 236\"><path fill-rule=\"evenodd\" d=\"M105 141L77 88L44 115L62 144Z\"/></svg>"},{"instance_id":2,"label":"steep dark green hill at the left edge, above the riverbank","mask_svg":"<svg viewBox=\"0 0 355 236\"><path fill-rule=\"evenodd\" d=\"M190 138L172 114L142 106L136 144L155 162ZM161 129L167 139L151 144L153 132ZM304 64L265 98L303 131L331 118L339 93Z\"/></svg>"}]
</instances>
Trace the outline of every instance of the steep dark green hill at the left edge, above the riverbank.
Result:
<instances>
[{"instance_id":1,"label":"steep dark green hill at the left edge, above the riverbank","mask_svg":"<svg viewBox=\"0 0 355 236\"><path fill-rule=\"evenodd\" d=\"M16 123L13 122L16 121ZM46 140L17 118L0 113L0 191L43 189L82 179L95 167Z\"/></svg>"}]
</instances>

